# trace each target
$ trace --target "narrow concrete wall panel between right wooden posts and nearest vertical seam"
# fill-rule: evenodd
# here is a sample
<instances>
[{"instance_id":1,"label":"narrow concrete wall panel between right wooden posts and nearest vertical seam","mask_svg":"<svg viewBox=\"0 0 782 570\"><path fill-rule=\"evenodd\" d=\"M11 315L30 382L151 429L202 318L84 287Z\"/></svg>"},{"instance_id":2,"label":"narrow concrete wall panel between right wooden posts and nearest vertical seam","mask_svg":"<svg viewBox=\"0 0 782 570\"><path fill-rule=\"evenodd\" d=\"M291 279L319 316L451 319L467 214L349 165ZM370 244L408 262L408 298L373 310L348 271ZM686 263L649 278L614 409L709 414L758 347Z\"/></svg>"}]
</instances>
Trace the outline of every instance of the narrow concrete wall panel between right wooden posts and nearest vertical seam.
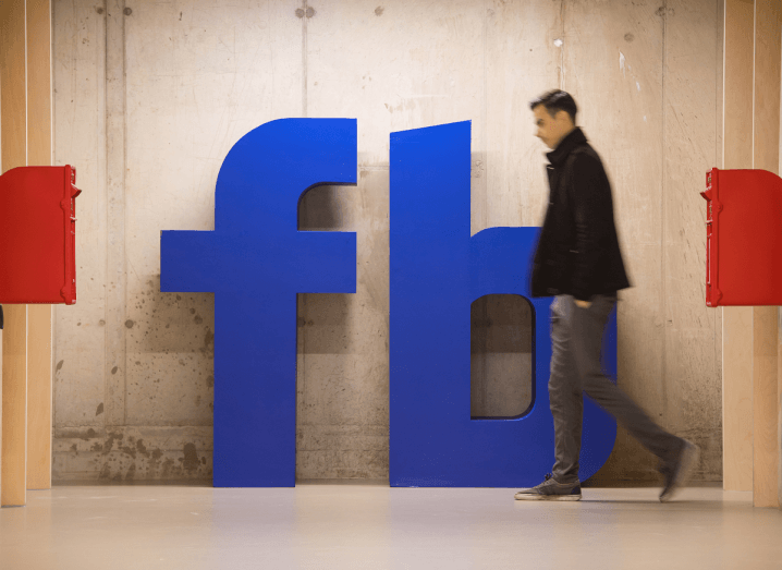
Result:
<instances>
[{"instance_id":1,"label":"narrow concrete wall panel between right wooden posts and nearest vertical seam","mask_svg":"<svg viewBox=\"0 0 782 570\"><path fill-rule=\"evenodd\" d=\"M704 165L719 165L718 130L707 130L705 119L722 112L721 95L712 95L721 76L717 32L722 14L714 7L685 0L667 5L669 88L662 101L665 420L668 427L700 445L704 478L721 480L722 312L704 306L706 210L693 189L704 185Z\"/></svg>"}]
</instances>

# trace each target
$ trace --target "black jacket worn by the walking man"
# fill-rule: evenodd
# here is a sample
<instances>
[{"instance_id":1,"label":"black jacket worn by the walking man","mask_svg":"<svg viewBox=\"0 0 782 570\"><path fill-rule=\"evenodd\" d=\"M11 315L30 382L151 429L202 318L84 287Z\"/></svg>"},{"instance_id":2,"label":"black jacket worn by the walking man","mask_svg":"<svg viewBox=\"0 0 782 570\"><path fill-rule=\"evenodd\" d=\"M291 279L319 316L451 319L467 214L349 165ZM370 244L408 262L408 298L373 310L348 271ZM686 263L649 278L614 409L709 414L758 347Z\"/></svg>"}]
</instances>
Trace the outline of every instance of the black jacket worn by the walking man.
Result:
<instances>
[{"instance_id":1,"label":"black jacket worn by the walking man","mask_svg":"<svg viewBox=\"0 0 782 570\"><path fill-rule=\"evenodd\" d=\"M575 129L548 155L549 207L533 260L531 294L588 301L630 287L600 157Z\"/></svg>"}]
</instances>

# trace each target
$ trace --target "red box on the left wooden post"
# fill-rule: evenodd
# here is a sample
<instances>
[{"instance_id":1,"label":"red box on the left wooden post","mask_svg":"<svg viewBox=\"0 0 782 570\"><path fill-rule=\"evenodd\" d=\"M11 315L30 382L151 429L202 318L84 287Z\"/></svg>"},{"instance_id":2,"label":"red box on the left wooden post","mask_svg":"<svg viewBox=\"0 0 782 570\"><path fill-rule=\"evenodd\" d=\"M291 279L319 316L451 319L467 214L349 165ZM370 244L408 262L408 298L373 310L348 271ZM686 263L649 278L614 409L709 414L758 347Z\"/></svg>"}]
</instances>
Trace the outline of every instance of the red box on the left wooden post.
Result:
<instances>
[{"instance_id":1,"label":"red box on the left wooden post","mask_svg":"<svg viewBox=\"0 0 782 570\"><path fill-rule=\"evenodd\" d=\"M76 302L75 184L70 166L0 177L0 303Z\"/></svg>"}]
</instances>

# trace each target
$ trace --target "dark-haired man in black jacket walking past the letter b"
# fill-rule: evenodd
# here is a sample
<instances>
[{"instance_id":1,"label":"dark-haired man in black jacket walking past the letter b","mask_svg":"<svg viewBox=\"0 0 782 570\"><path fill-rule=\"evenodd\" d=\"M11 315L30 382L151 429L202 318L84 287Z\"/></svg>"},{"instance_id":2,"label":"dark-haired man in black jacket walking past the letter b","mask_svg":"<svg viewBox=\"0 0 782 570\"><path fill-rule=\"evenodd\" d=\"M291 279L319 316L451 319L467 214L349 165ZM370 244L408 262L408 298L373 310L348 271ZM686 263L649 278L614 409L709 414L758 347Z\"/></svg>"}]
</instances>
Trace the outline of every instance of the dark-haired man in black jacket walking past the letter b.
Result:
<instances>
[{"instance_id":1,"label":"dark-haired man in black jacket walking past the letter b","mask_svg":"<svg viewBox=\"0 0 782 570\"><path fill-rule=\"evenodd\" d=\"M549 206L533 263L533 296L551 304L553 473L520 500L579 500L583 392L660 459L669 500L697 463L698 448L658 426L601 371L603 328L616 291L630 287L613 221L611 185L600 157L575 125L570 94L549 92L530 104L537 136L549 147Z\"/></svg>"}]
</instances>

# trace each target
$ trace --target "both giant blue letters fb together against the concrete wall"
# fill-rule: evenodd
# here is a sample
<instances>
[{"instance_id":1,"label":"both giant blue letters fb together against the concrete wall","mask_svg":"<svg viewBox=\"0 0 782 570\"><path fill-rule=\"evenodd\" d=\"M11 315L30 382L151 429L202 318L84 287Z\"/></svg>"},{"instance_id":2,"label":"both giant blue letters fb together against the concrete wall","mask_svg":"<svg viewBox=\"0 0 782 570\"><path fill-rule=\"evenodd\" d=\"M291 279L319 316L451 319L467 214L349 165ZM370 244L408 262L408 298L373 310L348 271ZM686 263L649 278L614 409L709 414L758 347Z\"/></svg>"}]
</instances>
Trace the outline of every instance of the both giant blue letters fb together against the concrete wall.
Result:
<instances>
[{"instance_id":1,"label":"both giant blue letters fb together against the concrete wall","mask_svg":"<svg viewBox=\"0 0 782 570\"><path fill-rule=\"evenodd\" d=\"M469 122L391 136L390 483L522 486L553 456L550 299L530 299L536 228L471 237ZM295 484L297 293L354 293L356 235L302 232L302 195L356 183L356 121L285 119L245 135L217 181L215 231L164 231L161 291L215 292L218 487ZM534 311L534 401L471 417L471 303L512 293ZM615 317L603 364L615 374ZM582 480L606 462L614 421L584 407Z\"/></svg>"}]
</instances>

